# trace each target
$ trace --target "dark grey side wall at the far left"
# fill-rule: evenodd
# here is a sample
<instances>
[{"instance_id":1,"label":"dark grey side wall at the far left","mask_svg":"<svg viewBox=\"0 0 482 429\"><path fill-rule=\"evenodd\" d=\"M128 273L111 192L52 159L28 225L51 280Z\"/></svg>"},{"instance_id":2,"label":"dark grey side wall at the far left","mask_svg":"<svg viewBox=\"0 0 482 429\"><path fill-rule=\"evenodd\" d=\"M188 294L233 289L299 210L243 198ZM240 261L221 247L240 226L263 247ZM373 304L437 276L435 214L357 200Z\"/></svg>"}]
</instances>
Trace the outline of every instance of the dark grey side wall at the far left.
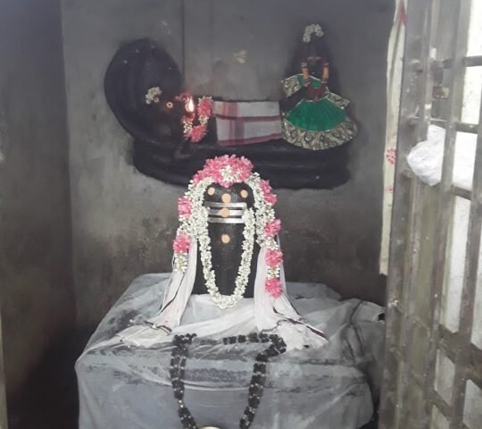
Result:
<instances>
[{"instance_id":1,"label":"dark grey side wall at the far left","mask_svg":"<svg viewBox=\"0 0 482 429\"><path fill-rule=\"evenodd\" d=\"M0 2L0 297L9 392L75 322L58 0Z\"/></svg>"}]
</instances>

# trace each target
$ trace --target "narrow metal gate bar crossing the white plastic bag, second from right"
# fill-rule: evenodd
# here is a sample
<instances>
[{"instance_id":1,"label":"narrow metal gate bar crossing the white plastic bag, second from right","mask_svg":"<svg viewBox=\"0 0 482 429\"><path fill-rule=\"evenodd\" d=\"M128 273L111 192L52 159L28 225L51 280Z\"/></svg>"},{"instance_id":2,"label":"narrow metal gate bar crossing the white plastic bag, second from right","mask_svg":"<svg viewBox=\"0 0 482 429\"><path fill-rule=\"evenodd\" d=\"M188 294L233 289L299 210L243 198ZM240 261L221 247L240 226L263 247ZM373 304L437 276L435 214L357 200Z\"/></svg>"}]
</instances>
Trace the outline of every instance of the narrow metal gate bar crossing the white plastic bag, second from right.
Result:
<instances>
[{"instance_id":1,"label":"narrow metal gate bar crossing the white plastic bag, second from right","mask_svg":"<svg viewBox=\"0 0 482 429\"><path fill-rule=\"evenodd\" d=\"M427 381L425 385L427 425L431 424L431 408L433 404L434 383L436 377L436 355L438 349L438 326L440 323L442 293L445 277L445 259L447 256L447 239L449 226L453 217L453 157L457 130L455 122L460 121L461 105L463 99L463 56L465 55L469 27L470 0L452 2L453 9L450 11L454 28L445 29L453 34L451 52L453 57L453 68L451 69L449 82L449 113L445 129L445 154L442 170L442 181L440 185L440 197L438 205L438 216L436 219L438 236L436 240L436 257L434 264L434 282L431 285L430 296L434 299L433 313L431 315L430 345L427 360ZM451 404L449 404L451 405Z\"/></svg>"}]
</instances>

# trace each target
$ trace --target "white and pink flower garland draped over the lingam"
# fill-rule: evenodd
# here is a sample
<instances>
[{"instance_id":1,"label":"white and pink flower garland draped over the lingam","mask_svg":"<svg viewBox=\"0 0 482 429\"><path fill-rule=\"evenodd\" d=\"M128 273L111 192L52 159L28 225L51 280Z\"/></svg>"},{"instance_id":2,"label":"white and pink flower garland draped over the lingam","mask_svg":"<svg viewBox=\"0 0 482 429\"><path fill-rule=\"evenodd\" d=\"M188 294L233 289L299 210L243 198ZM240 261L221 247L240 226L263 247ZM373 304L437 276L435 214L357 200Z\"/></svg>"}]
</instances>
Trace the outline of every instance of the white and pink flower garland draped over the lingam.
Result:
<instances>
[{"instance_id":1,"label":"white and pink flower garland draped over the lingam","mask_svg":"<svg viewBox=\"0 0 482 429\"><path fill-rule=\"evenodd\" d=\"M271 192L268 181L263 181L253 172L253 165L244 157L220 156L208 160L201 172L190 182L185 197L179 198L180 225L174 240L174 269L185 272L190 240L199 243L206 289L220 308L234 307L242 299L249 279L253 258L254 240L266 248L266 290L278 298L283 290L280 266L283 262L276 240L280 223L275 217L273 205L276 196ZM237 271L236 287L232 295L224 296L216 285L216 274L212 269L211 239L208 233L208 210L204 206L204 193L212 183L229 188L233 183L245 182L253 190L254 210L247 209L243 215L245 229L241 263ZM255 239L254 239L255 238Z\"/></svg>"}]
</instances>

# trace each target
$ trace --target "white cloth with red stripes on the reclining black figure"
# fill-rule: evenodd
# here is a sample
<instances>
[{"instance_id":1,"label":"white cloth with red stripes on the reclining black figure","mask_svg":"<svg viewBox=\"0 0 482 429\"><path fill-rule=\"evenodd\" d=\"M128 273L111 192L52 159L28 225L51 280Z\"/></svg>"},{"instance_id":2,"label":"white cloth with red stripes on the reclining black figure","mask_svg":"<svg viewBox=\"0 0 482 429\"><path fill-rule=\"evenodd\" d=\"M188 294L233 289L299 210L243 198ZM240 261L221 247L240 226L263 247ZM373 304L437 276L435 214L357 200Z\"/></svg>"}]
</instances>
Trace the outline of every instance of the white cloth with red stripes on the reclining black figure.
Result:
<instances>
[{"instance_id":1,"label":"white cloth with red stripes on the reclining black figure","mask_svg":"<svg viewBox=\"0 0 482 429\"><path fill-rule=\"evenodd\" d=\"M215 101L220 146L242 146L281 139L281 118L277 101Z\"/></svg>"}]
</instances>

